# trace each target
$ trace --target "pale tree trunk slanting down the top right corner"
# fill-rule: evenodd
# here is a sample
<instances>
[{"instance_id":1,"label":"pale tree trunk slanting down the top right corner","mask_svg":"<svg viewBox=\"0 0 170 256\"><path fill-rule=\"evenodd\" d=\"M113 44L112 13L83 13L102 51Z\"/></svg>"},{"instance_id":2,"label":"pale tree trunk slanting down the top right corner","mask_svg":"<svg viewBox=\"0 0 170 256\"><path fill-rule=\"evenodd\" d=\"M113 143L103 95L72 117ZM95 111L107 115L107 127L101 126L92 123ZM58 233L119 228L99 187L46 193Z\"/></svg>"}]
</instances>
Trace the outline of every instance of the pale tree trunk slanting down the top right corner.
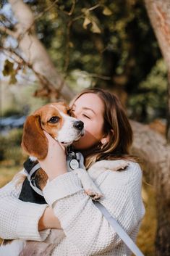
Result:
<instances>
[{"instance_id":1,"label":"pale tree trunk slanting down the top right corner","mask_svg":"<svg viewBox=\"0 0 170 256\"><path fill-rule=\"evenodd\" d=\"M168 67L168 92L170 91L170 1L145 0L145 7L156 34L163 58ZM167 141L170 143L170 93L167 101Z\"/></svg>"}]
</instances>

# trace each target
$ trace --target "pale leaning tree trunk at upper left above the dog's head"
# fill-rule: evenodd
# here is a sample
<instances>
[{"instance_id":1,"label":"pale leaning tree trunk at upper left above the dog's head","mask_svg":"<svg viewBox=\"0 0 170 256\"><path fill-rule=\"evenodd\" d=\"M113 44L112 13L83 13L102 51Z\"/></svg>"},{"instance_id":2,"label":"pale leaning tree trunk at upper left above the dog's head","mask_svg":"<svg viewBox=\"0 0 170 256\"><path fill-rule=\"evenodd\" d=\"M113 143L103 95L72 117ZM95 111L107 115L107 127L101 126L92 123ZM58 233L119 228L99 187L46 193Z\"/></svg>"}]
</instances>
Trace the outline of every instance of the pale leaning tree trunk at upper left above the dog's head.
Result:
<instances>
[{"instance_id":1,"label":"pale leaning tree trunk at upper left above the dog's head","mask_svg":"<svg viewBox=\"0 0 170 256\"><path fill-rule=\"evenodd\" d=\"M43 91L51 99L59 98L59 94L68 101L75 95L67 86L64 79L56 71L48 53L35 34L34 16L30 7L22 0L9 0L14 17L17 19L13 37L17 39L18 48L22 51L22 58L33 67L35 74L41 80ZM46 92L45 92L46 91Z\"/></svg>"}]
</instances>

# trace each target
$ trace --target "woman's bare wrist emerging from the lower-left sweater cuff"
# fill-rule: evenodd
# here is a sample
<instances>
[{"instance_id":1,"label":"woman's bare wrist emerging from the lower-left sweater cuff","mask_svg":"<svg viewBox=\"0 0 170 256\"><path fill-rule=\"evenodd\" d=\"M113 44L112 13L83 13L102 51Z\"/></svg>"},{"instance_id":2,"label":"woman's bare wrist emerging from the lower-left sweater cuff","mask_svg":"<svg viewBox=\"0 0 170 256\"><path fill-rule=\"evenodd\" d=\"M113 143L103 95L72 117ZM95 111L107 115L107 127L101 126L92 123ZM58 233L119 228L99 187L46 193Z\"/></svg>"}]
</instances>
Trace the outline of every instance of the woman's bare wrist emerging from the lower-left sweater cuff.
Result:
<instances>
[{"instance_id":1,"label":"woman's bare wrist emerging from the lower-left sweater cuff","mask_svg":"<svg viewBox=\"0 0 170 256\"><path fill-rule=\"evenodd\" d=\"M42 217L38 222L38 231L42 231L46 228L61 229L59 219L54 215L54 210L51 207L46 207Z\"/></svg>"}]
</instances>

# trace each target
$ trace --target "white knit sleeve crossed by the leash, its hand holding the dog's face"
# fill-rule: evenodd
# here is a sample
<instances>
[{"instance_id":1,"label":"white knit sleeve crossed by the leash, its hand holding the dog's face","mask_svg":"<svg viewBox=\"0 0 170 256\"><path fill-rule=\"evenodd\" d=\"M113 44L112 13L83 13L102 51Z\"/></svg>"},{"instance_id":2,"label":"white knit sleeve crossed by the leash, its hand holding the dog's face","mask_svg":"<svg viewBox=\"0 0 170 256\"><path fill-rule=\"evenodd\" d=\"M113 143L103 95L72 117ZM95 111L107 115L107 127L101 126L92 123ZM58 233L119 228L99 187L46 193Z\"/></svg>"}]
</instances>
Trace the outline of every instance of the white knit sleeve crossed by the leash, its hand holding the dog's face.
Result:
<instances>
[{"instance_id":1,"label":"white knit sleeve crossed by the leash, its hand holding the dog's face","mask_svg":"<svg viewBox=\"0 0 170 256\"><path fill-rule=\"evenodd\" d=\"M132 168L129 168L132 169ZM116 176L115 176L116 173ZM127 233L139 228L141 216L137 216L133 193L135 181L128 182L132 173L124 171L124 176L108 171L100 189L104 194L101 203L111 212ZM123 172L122 172L123 173ZM133 177L133 176L132 176ZM134 178L135 180L135 178ZM111 183L111 181L113 181ZM137 186L141 186L141 173L136 176ZM134 191L133 191L134 190ZM138 208L142 203L140 188L137 191ZM67 239L85 255L107 252L119 246L119 236L114 232L100 210L82 189L80 179L72 171L55 178L43 189L44 197L61 222ZM136 232L137 233L137 232Z\"/></svg>"}]
</instances>

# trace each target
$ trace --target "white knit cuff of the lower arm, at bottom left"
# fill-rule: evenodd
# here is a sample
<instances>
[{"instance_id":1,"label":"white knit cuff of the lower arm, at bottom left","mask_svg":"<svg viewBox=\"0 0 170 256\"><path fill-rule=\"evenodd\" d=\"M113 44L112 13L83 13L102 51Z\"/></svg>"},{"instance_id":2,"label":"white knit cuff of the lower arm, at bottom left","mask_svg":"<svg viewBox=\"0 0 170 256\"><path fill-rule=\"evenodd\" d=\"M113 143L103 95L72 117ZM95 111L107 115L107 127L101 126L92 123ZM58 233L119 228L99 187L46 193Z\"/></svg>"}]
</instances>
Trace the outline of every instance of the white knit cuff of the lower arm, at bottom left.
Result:
<instances>
[{"instance_id":1,"label":"white knit cuff of the lower arm, at bottom left","mask_svg":"<svg viewBox=\"0 0 170 256\"><path fill-rule=\"evenodd\" d=\"M50 233L50 229L38 231L38 222L48 205L26 203L20 208L17 234L20 239L43 241Z\"/></svg>"}]
</instances>

